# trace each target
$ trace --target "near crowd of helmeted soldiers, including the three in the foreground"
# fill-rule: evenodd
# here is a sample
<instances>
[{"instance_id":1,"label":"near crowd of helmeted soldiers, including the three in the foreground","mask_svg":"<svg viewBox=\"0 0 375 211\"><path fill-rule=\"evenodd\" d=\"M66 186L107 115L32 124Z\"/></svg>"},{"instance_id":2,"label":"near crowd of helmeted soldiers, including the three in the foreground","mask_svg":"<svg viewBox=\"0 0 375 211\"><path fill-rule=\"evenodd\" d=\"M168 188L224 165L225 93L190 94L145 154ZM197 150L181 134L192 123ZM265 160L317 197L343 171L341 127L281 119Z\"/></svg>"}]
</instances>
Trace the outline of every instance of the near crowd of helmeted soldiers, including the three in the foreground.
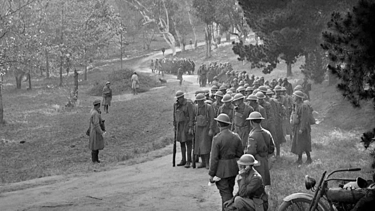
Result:
<instances>
[{"instance_id":1,"label":"near crowd of helmeted soldiers, including the three in the foreground","mask_svg":"<svg viewBox=\"0 0 375 211\"><path fill-rule=\"evenodd\" d=\"M286 135L293 140L296 163L302 164L303 152L308 157L305 163L312 163L310 125L314 123L308 96L302 85L293 92L287 78L269 82L230 72L231 83L221 84L217 78L216 82L211 90L197 91L194 102L185 99L182 91L176 93L174 125L183 122L177 128L184 128L177 135L183 154L177 166L189 168L199 155L198 168L209 169L210 182L216 183L222 197L222 210L267 210L270 158L275 148L276 157L280 156ZM190 139L180 138L181 133ZM189 155L192 145L193 156ZM238 174L239 192L233 196ZM214 181L215 176L220 180Z\"/></svg>"}]
</instances>

